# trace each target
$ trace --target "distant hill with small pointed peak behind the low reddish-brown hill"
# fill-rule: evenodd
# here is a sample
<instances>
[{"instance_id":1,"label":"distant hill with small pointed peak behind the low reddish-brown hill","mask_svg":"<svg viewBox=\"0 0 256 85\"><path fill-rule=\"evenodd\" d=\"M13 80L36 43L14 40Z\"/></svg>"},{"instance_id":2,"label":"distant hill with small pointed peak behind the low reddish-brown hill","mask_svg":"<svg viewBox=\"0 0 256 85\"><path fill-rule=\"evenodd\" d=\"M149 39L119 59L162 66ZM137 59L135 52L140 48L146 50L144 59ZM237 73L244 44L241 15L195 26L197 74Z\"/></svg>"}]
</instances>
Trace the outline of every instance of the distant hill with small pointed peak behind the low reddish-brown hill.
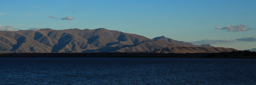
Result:
<instances>
[{"instance_id":1,"label":"distant hill with small pointed peak behind the low reddish-brown hill","mask_svg":"<svg viewBox=\"0 0 256 85\"><path fill-rule=\"evenodd\" d=\"M156 38L153 38L154 40L155 39L159 39L159 40L164 40L164 41L168 41L168 42L174 42L174 43L177 43L177 44L180 44L182 46L193 46L193 47L213 47L209 44L206 44L206 45L194 45L190 42L184 42L184 41L177 41L177 40L173 40L173 39L170 39L170 38L166 38L165 36L159 36L159 37L156 37Z\"/></svg>"}]
</instances>

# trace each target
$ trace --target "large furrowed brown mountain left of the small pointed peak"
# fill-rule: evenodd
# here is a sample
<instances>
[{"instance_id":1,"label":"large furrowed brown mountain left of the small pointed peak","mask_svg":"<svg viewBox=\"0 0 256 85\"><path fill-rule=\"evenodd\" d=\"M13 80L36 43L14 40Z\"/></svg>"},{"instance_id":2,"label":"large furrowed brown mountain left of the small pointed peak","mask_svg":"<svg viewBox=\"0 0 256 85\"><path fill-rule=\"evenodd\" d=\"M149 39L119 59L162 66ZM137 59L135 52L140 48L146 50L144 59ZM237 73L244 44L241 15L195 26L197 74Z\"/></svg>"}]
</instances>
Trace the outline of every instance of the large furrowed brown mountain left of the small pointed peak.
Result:
<instances>
[{"instance_id":1,"label":"large furrowed brown mountain left of the small pointed peak","mask_svg":"<svg viewBox=\"0 0 256 85\"><path fill-rule=\"evenodd\" d=\"M0 52L80 52L102 47L134 45L153 41L136 34L105 28L99 29L41 29L0 31ZM120 47L119 47L120 48ZM108 51L107 49L106 51Z\"/></svg>"}]
</instances>

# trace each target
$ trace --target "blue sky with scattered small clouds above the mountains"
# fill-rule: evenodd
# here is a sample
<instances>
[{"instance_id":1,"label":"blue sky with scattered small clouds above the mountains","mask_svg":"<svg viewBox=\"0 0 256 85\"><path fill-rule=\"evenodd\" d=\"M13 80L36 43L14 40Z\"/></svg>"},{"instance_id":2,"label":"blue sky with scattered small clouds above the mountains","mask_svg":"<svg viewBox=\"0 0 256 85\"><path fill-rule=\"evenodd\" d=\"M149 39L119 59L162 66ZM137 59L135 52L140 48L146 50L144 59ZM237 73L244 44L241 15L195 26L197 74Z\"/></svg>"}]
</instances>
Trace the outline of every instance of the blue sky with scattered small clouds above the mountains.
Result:
<instances>
[{"instance_id":1,"label":"blue sky with scattered small clouds above the mountains","mask_svg":"<svg viewBox=\"0 0 256 85\"><path fill-rule=\"evenodd\" d=\"M256 48L256 0L1 0L0 30L118 30Z\"/></svg>"}]
</instances>

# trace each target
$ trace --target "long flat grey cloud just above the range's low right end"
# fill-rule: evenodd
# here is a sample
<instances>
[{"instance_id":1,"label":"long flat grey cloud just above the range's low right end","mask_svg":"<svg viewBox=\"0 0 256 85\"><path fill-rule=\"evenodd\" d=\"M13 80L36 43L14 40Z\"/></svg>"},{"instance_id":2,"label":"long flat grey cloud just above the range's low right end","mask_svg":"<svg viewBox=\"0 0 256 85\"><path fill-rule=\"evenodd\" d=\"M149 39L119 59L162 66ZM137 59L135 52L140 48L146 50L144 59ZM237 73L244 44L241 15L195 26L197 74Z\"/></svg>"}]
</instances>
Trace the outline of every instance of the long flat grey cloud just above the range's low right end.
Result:
<instances>
[{"instance_id":1,"label":"long flat grey cloud just above the range's low right end","mask_svg":"<svg viewBox=\"0 0 256 85\"><path fill-rule=\"evenodd\" d=\"M200 41L193 41L190 42L192 44L227 44L227 43L233 43L235 40L212 40L212 39L203 39Z\"/></svg>"}]
</instances>

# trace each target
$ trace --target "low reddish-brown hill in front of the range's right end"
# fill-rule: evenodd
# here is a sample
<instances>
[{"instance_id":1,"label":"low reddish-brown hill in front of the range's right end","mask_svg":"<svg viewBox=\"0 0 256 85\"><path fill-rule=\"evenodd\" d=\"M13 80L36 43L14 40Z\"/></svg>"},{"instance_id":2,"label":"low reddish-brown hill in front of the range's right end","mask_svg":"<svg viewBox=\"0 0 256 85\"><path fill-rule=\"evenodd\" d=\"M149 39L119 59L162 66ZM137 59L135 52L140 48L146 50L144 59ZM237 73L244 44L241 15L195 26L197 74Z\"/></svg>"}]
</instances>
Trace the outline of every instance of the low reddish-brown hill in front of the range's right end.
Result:
<instances>
[{"instance_id":1,"label":"low reddish-brown hill in front of the range's right end","mask_svg":"<svg viewBox=\"0 0 256 85\"><path fill-rule=\"evenodd\" d=\"M153 52L157 53L199 53L199 52L230 52L230 51L238 51L233 48L225 48L225 47L192 47L192 46L170 46L165 47L163 49L158 49Z\"/></svg>"}]
</instances>

